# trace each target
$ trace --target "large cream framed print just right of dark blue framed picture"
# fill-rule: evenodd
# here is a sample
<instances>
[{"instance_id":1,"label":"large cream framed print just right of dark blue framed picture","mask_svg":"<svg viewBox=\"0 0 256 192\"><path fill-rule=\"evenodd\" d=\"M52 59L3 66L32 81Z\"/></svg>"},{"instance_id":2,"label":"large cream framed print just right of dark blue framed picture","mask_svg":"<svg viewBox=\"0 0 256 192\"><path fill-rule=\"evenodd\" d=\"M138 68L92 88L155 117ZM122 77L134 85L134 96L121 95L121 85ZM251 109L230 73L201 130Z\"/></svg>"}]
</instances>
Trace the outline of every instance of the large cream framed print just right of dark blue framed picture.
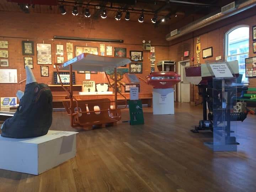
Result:
<instances>
[{"instance_id":1,"label":"large cream framed print just right of dark blue framed picture","mask_svg":"<svg viewBox=\"0 0 256 192\"><path fill-rule=\"evenodd\" d=\"M37 43L37 64L52 64L52 45Z\"/></svg>"}]
</instances>

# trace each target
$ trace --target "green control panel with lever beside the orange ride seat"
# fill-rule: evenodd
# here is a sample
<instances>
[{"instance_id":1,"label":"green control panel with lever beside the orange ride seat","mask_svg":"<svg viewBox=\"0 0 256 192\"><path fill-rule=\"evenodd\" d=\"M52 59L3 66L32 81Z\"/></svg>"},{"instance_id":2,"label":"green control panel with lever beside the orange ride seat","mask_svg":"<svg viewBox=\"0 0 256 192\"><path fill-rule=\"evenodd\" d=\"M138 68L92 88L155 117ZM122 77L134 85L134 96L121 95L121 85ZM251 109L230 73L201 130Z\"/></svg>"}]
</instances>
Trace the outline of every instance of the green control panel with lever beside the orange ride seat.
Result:
<instances>
[{"instance_id":1,"label":"green control panel with lever beside the orange ride seat","mask_svg":"<svg viewBox=\"0 0 256 192\"><path fill-rule=\"evenodd\" d=\"M129 101L130 125L144 124L141 100Z\"/></svg>"}]
</instances>

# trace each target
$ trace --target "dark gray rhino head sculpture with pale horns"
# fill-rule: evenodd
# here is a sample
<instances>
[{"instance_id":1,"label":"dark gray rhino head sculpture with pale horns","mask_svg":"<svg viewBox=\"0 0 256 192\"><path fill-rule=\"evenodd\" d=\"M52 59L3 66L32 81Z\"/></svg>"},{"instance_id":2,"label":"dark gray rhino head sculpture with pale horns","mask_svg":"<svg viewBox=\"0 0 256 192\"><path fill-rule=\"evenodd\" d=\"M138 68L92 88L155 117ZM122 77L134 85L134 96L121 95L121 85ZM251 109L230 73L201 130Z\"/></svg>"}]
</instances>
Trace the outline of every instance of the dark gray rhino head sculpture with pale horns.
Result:
<instances>
[{"instance_id":1,"label":"dark gray rhino head sculpture with pale horns","mask_svg":"<svg viewBox=\"0 0 256 192\"><path fill-rule=\"evenodd\" d=\"M2 137L39 137L47 134L52 124L52 92L48 85L36 82L29 66L26 76L25 91L16 94L20 105L14 116L2 124Z\"/></svg>"}]
</instances>

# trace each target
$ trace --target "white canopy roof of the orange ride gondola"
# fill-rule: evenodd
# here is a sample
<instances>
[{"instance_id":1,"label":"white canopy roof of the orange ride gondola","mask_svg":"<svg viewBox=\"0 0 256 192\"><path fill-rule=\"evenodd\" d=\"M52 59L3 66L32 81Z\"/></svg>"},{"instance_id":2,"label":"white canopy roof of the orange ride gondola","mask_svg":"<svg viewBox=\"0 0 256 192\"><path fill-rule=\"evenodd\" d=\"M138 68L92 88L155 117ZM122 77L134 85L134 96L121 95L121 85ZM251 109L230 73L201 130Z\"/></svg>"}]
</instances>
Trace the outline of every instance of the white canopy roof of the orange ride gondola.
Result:
<instances>
[{"instance_id":1,"label":"white canopy roof of the orange ride gondola","mask_svg":"<svg viewBox=\"0 0 256 192\"><path fill-rule=\"evenodd\" d=\"M59 65L60 70L74 71L107 71L119 66L130 63L129 58L121 57L105 57L89 53L82 53L69 61Z\"/></svg>"}]
</instances>

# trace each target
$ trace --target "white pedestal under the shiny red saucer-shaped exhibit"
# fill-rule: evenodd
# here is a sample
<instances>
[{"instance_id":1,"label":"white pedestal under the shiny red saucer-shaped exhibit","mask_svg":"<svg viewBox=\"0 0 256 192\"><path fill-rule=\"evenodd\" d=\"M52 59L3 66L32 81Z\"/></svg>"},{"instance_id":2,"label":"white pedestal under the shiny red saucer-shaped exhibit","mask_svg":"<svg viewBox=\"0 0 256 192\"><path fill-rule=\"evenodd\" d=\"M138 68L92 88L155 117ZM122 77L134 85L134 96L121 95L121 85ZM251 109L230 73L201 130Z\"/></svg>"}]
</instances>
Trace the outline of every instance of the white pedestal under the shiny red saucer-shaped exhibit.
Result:
<instances>
[{"instance_id":1,"label":"white pedestal under the shiny red saucer-shaped exhibit","mask_svg":"<svg viewBox=\"0 0 256 192\"><path fill-rule=\"evenodd\" d=\"M174 88L153 89L153 114L174 114Z\"/></svg>"}]
</instances>

